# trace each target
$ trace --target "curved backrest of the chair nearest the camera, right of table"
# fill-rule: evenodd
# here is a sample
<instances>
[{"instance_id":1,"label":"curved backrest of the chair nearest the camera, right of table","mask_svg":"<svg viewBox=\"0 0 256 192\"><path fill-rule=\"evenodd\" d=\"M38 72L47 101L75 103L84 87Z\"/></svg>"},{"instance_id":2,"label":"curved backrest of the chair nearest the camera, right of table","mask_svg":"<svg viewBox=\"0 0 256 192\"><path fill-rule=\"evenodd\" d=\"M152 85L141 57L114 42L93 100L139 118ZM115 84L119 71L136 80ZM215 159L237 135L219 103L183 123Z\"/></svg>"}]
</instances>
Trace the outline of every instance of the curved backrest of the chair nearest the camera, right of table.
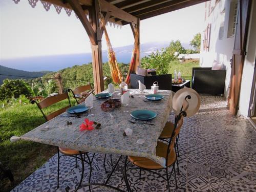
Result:
<instances>
[{"instance_id":1,"label":"curved backrest of the chair nearest the camera, right of table","mask_svg":"<svg viewBox=\"0 0 256 192\"><path fill-rule=\"evenodd\" d=\"M176 136L178 136L180 133L181 127L183 125L183 117L185 117L185 116L186 116L186 112L184 112L184 111L181 111L179 113L179 115L177 116L177 120L174 124L174 131L173 131L172 137L170 138L169 143L168 143L168 150L166 153L166 166L168 165L168 156L174 150Z\"/></svg>"}]
</instances>

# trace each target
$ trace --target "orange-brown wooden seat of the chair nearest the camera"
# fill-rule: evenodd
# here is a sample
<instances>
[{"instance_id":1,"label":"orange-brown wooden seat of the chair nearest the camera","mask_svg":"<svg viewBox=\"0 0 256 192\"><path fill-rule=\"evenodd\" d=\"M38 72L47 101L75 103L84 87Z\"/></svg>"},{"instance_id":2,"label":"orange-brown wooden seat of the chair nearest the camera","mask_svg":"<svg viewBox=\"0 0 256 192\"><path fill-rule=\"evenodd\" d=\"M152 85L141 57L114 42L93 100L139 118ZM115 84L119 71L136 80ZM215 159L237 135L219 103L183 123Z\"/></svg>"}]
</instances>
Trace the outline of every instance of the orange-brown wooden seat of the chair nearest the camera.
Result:
<instances>
[{"instance_id":1,"label":"orange-brown wooden seat of the chair nearest the camera","mask_svg":"<svg viewBox=\"0 0 256 192\"><path fill-rule=\"evenodd\" d=\"M157 147L156 147L156 155L159 157L166 158L166 153L167 153L167 148L168 145L158 141L157 142ZM146 169L161 169L163 168L160 164L152 161L151 159L147 159L145 157L134 157L134 156L129 156L128 159L135 165L141 168L146 168ZM176 154L175 151L172 150L168 156L168 165L172 165L176 160Z\"/></svg>"}]
</instances>

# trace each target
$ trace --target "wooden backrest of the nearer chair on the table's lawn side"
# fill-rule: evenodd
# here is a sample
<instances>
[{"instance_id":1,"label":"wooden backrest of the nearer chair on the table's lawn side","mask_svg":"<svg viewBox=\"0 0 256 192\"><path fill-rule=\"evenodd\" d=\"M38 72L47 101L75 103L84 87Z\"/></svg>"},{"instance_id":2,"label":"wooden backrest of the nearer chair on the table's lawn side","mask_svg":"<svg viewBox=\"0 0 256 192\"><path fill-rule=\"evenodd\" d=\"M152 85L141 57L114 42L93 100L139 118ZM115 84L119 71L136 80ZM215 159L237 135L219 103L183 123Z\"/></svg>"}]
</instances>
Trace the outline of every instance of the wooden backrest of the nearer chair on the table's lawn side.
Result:
<instances>
[{"instance_id":1,"label":"wooden backrest of the nearer chair on the table's lawn side","mask_svg":"<svg viewBox=\"0 0 256 192\"><path fill-rule=\"evenodd\" d=\"M41 111L42 115L45 117L45 119L47 121L53 119L54 117L60 115L61 113L65 112L68 108L71 107L71 103L70 103L70 100L69 100L69 105L68 106L65 106L64 108L61 108L49 115L45 115L45 113L42 111L42 109L44 108L47 108L48 106L51 106L52 104L55 104L59 101L62 101L62 100L65 100L65 99L68 99L69 100L69 94L68 92L65 92L63 94L60 94L60 95L54 95L54 96L51 96L51 97L48 97L46 98L45 100L37 103L35 100L31 101L32 104L36 103L36 105L38 106L39 110Z\"/></svg>"}]
</instances>

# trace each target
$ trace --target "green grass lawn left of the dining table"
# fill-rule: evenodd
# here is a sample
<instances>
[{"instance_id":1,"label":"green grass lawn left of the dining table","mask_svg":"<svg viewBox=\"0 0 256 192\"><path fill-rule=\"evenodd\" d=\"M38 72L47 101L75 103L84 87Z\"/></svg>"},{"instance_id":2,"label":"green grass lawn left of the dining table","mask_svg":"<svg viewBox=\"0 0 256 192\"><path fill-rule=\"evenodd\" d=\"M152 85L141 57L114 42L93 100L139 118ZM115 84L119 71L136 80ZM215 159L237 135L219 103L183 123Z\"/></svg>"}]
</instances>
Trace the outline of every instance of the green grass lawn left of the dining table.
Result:
<instances>
[{"instance_id":1,"label":"green grass lawn left of the dining table","mask_svg":"<svg viewBox=\"0 0 256 192\"><path fill-rule=\"evenodd\" d=\"M67 105L68 101L62 101L52 105L45 112L49 114ZM0 109L0 161L12 170L15 180L12 185L8 179L1 181L1 191L10 191L57 152L54 146L36 142L10 142L12 136L22 136L45 122L36 104L14 103L14 106Z\"/></svg>"}]
</instances>

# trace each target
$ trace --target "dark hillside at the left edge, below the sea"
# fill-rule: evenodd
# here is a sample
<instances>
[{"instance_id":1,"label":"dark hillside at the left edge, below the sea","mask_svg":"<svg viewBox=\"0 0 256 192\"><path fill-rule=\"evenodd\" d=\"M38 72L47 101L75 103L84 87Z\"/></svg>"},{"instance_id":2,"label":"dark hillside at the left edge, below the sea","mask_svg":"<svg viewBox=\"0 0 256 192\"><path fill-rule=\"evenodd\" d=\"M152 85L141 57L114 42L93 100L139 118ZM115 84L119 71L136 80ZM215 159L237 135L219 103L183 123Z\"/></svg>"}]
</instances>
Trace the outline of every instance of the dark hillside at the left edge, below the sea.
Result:
<instances>
[{"instance_id":1,"label":"dark hillside at the left edge, below the sea","mask_svg":"<svg viewBox=\"0 0 256 192\"><path fill-rule=\"evenodd\" d=\"M0 85L3 83L3 80L6 78L8 78L8 79L30 79L28 77L41 77L47 73L50 73L50 71L30 72L30 71L22 71L22 70L12 69L12 68L8 68L8 67L4 67L4 66L0 65ZM9 75L14 75L14 76L9 76ZM23 76L23 77L16 77L16 76Z\"/></svg>"}]
</instances>

